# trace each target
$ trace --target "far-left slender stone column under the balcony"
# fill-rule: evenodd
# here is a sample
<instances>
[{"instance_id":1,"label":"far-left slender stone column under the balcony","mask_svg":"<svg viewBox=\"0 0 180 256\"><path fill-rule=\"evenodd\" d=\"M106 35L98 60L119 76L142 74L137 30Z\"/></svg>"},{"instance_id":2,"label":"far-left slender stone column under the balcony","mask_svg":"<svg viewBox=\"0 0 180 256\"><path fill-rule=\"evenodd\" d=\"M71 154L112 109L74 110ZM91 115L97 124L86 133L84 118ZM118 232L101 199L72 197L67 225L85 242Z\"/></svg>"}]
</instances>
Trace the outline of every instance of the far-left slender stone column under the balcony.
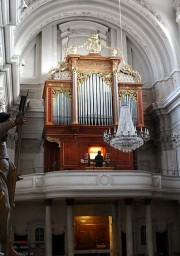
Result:
<instances>
[{"instance_id":1,"label":"far-left slender stone column under the balcony","mask_svg":"<svg viewBox=\"0 0 180 256\"><path fill-rule=\"evenodd\" d=\"M52 225L51 225L52 199L45 200L45 256L52 255Z\"/></svg>"}]
</instances>

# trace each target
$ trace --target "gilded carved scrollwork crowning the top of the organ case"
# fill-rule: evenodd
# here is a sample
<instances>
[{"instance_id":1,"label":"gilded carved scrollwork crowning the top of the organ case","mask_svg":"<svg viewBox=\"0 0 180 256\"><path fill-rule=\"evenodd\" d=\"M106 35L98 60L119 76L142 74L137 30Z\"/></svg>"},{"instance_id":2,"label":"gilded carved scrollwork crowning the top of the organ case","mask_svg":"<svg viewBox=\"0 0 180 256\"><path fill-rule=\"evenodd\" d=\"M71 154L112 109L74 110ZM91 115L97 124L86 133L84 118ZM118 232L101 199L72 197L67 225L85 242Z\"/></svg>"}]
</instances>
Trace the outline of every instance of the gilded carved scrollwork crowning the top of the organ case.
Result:
<instances>
[{"instance_id":1,"label":"gilded carved scrollwork crowning the top of the organ case","mask_svg":"<svg viewBox=\"0 0 180 256\"><path fill-rule=\"evenodd\" d=\"M107 45L104 45L100 39L99 39L99 35L98 34L95 34L95 33L92 33L87 41L85 43L83 43L82 45L76 45L76 46L70 46L66 49L66 53L65 53L65 58L67 57L67 55L69 54L69 51L72 50L73 53L75 54L77 52L78 49L80 48L84 48L86 47L87 50L89 51L89 53L100 53L101 50L103 48L105 49L108 49L112 52L112 55L113 56L119 56L120 60L121 60L121 63L123 64L121 68L118 69L115 69L113 70L113 73L114 75L116 75L117 73L117 77L118 77L118 80L120 81L121 80L121 76L122 74L125 74L125 75L129 75L132 77L132 80L133 81L130 81L130 82L137 82L137 83L140 83L142 81L142 78L141 78L141 75L139 74L138 71L132 69L132 67L125 63L124 61L124 57L123 57L123 54L122 52L118 49L118 48L111 48ZM90 66L91 64L93 64L94 67L98 67L98 66L104 66L107 68L107 66L109 66L110 64L108 63L92 63L92 62L83 62L83 61L80 61L78 64L82 65L82 66L86 66L88 68L88 66ZM55 68L51 68L50 71L48 72L48 79L53 79L53 75L56 74L56 73L63 73L64 71L68 71L70 75L74 74L74 73L78 73L78 84L81 84L82 81L85 81L88 76L90 76L91 74L95 73L95 74L99 74L104 81L106 81L106 83L110 84L110 80L112 82L112 74L110 73L111 71L107 71L109 72L108 74L105 73L105 72L99 72L99 71L95 71L95 70L91 70L91 71L80 71L78 70L78 68L75 66L72 65L72 70L69 71L68 70L68 63L67 61L62 61L62 62L58 62L58 65L57 67ZM110 78L111 77L111 78Z\"/></svg>"}]
</instances>

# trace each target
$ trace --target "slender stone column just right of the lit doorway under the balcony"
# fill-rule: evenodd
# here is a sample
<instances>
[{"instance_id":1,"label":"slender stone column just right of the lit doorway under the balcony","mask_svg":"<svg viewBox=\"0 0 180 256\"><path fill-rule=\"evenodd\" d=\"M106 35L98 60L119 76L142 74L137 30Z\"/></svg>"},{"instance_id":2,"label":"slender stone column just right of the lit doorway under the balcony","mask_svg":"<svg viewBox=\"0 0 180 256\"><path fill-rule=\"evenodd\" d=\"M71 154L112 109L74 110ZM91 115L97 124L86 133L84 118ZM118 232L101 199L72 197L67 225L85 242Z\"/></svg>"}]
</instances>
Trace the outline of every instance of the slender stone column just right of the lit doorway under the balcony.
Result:
<instances>
[{"instance_id":1,"label":"slender stone column just right of the lit doorway under the balcony","mask_svg":"<svg viewBox=\"0 0 180 256\"><path fill-rule=\"evenodd\" d=\"M132 199L125 199L125 205L127 256L133 256Z\"/></svg>"}]
</instances>

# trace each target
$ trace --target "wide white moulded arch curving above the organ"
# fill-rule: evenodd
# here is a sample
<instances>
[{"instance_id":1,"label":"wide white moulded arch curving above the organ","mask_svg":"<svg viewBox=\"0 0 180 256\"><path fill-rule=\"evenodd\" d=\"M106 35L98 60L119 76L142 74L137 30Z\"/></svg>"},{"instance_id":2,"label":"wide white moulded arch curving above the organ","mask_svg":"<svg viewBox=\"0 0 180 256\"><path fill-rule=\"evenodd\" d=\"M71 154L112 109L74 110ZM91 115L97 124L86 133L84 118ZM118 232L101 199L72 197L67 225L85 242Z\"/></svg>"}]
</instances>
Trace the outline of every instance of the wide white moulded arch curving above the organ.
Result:
<instances>
[{"instance_id":1,"label":"wide white moulded arch curving above the organ","mask_svg":"<svg viewBox=\"0 0 180 256\"><path fill-rule=\"evenodd\" d=\"M42 5L34 3L23 13L22 20L15 30L17 55L21 55L29 42L49 24L77 20L93 21L115 28L117 37L120 35L119 9L116 1L100 0L96 3L88 1L83 4L83 1L62 0L61 5L56 1L48 4L46 2L44 1L43 4L41 1ZM38 7L37 10L35 7ZM153 71L155 81L168 77L172 70L178 67L179 60L175 54L177 50L175 42L169 38L167 24L150 5L145 4L145 1L122 0L121 9L123 32L129 35L133 44L142 52L142 56L146 56L144 58L146 63L148 57L151 66L148 69Z\"/></svg>"}]
</instances>

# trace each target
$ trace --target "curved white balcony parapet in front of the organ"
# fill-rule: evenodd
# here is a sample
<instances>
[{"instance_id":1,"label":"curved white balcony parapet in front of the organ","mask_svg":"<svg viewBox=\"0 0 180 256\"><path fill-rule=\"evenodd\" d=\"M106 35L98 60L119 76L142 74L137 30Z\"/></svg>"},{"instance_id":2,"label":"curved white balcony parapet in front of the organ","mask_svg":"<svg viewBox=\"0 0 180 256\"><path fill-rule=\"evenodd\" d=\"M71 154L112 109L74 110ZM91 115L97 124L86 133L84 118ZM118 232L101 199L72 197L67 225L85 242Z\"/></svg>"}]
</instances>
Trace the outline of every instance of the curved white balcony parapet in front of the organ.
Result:
<instances>
[{"instance_id":1,"label":"curved white balcony parapet in front of the organ","mask_svg":"<svg viewBox=\"0 0 180 256\"><path fill-rule=\"evenodd\" d=\"M46 198L165 198L180 196L180 177L139 170L66 170L23 175L15 200Z\"/></svg>"}]
</instances>

